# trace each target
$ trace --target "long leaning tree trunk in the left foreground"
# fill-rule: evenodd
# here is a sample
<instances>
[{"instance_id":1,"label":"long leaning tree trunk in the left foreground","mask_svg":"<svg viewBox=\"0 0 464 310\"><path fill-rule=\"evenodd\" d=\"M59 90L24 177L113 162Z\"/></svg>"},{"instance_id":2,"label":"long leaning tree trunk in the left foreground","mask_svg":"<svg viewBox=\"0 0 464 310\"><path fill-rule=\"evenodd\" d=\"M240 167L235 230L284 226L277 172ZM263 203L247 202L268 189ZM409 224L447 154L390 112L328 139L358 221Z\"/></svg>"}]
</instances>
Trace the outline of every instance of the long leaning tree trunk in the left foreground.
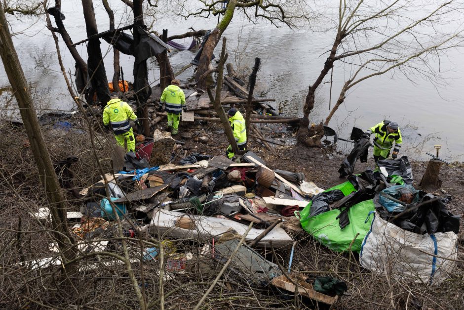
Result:
<instances>
[{"instance_id":1,"label":"long leaning tree trunk in the left foreground","mask_svg":"<svg viewBox=\"0 0 464 310\"><path fill-rule=\"evenodd\" d=\"M66 262L76 257L74 248L75 240L72 237L66 219L66 199L58 178L53 169L53 164L48 153L45 141L40 132L39 121L32 101L29 85L19 63L18 55L11 40L11 35L6 23L3 7L0 2L0 56L6 75L18 102L19 112L24 122L24 127L31 144L40 181L43 185L52 219L53 236L62 250L61 255L68 275L74 273L75 264L67 266Z\"/></svg>"}]
</instances>

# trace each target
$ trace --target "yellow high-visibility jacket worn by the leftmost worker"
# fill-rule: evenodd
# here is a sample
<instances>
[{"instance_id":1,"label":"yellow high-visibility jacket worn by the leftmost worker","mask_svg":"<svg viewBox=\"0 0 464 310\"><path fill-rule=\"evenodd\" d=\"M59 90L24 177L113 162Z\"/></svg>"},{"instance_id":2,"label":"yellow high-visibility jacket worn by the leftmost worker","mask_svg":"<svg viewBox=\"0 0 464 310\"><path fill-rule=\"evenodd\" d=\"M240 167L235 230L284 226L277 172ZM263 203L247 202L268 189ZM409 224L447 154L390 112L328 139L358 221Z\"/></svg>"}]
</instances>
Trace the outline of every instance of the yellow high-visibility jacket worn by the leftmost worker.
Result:
<instances>
[{"instance_id":1,"label":"yellow high-visibility jacket worn by the leftmost worker","mask_svg":"<svg viewBox=\"0 0 464 310\"><path fill-rule=\"evenodd\" d=\"M130 131L130 121L137 121L137 116L127 102L121 99L111 99L103 110L103 125L111 123L115 134L123 134Z\"/></svg>"}]
</instances>

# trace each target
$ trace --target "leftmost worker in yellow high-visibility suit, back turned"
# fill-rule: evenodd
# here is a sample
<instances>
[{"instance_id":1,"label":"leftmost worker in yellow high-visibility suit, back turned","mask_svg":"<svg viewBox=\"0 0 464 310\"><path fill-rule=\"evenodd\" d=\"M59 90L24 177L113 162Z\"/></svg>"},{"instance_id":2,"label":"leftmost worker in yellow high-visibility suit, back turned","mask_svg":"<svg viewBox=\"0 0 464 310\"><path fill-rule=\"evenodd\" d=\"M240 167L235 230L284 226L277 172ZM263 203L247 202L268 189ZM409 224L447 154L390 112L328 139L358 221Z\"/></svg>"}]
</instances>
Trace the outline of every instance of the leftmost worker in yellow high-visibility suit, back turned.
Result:
<instances>
[{"instance_id":1,"label":"leftmost worker in yellow high-visibility suit, back turned","mask_svg":"<svg viewBox=\"0 0 464 310\"><path fill-rule=\"evenodd\" d=\"M108 101L103 110L103 125L110 127L111 124L117 144L124 147L125 142L127 144L126 151L134 152L135 138L130 121L134 121L137 126L140 126L137 115L127 102L119 99L117 93L112 93L111 100Z\"/></svg>"}]
</instances>

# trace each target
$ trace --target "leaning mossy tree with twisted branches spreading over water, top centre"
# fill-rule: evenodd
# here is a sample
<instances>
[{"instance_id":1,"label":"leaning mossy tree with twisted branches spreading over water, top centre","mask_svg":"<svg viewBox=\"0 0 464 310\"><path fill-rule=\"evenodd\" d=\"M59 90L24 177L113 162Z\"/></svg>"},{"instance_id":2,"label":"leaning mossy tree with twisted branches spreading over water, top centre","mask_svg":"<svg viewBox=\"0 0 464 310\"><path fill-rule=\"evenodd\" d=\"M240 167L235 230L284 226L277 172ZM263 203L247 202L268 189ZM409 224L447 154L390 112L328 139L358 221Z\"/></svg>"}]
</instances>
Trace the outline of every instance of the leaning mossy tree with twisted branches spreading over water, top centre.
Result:
<instances>
[{"instance_id":1,"label":"leaning mossy tree with twisted branches spreading over water, top centre","mask_svg":"<svg viewBox=\"0 0 464 310\"><path fill-rule=\"evenodd\" d=\"M301 21L309 21L312 18L312 11L306 4L306 1L301 0L231 0L228 2L200 2L204 4L204 7L198 8L193 12L191 12L192 8L187 7L187 4L183 2L181 4L183 11L187 11L187 13L182 13L181 16L185 18L191 16L209 18L211 15L224 15L222 19L218 17L218 24L212 30L203 46L198 70L196 72L198 87L202 89L206 88L206 79L200 79L200 77L208 70L214 48L219 43L222 34L231 23L235 11L243 13L249 22L256 23L258 21L267 21L275 27L280 27L282 25L286 25L290 28L298 27L298 23ZM224 3L227 5L224 5ZM219 8L219 5L222 6Z\"/></svg>"}]
</instances>

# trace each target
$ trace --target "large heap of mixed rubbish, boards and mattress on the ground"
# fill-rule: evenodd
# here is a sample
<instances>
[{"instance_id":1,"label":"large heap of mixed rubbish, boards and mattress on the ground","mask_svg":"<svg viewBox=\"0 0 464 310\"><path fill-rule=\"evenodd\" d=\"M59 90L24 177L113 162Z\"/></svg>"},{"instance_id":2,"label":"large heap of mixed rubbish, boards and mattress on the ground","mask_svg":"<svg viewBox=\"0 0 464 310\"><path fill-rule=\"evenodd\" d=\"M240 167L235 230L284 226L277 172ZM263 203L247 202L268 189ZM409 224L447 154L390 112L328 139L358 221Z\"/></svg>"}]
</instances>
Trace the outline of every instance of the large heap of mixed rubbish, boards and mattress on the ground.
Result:
<instances>
[{"instance_id":1,"label":"large heap of mixed rubbish, boards and mattress on the ground","mask_svg":"<svg viewBox=\"0 0 464 310\"><path fill-rule=\"evenodd\" d=\"M142 148L137 154L119 154L124 157L114 158L114 164L122 164L120 171L80 191L81 212L68 213L70 221L77 220L71 229L80 240L79 251L117 252L122 230L129 241L134 240L132 246L128 242L134 264L141 259L139 239L157 244L144 246L146 264L159 262L162 248L167 277L184 272L193 261L207 259L228 265L227 276L234 281L268 287L284 296L293 294L297 285L300 295L333 305L347 290L338 279L309 279L294 272L293 255L288 271L266 258L266 253L274 251L291 249L293 254L292 235L303 232L295 214L323 191L305 181L304 174L271 170L251 151L241 157L241 163L193 153L175 165L171 154L179 145L170 133L155 132L151 143L150 152ZM49 214L40 210L35 216L46 220ZM185 240L199 246L197 253L185 251L181 245ZM56 255L31 266L45 268L60 262ZM115 261L85 263L80 270Z\"/></svg>"}]
</instances>

